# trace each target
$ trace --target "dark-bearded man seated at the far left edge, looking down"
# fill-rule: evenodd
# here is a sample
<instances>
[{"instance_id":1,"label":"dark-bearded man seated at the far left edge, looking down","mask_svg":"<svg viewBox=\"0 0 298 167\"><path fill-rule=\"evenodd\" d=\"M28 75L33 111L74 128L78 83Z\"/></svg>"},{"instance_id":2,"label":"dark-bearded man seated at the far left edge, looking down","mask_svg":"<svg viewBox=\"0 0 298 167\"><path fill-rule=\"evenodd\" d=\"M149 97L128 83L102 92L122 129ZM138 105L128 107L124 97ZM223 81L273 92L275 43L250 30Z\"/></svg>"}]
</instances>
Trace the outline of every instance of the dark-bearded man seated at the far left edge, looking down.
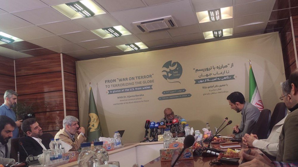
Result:
<instances>
[{"instance_id":1,"label":"dark-bearded man seated at the far left edge, looking down","mask_svg":"<svg viewBox=\"0 0 298 167\"><path fill-rule=\"evenodd\" d=\"M7 165L15 163L14 159L10 156L10 138L13 137L13 130L16 124L8 116L0 116L0 164Z\"/></svg>"}]
</instances>

